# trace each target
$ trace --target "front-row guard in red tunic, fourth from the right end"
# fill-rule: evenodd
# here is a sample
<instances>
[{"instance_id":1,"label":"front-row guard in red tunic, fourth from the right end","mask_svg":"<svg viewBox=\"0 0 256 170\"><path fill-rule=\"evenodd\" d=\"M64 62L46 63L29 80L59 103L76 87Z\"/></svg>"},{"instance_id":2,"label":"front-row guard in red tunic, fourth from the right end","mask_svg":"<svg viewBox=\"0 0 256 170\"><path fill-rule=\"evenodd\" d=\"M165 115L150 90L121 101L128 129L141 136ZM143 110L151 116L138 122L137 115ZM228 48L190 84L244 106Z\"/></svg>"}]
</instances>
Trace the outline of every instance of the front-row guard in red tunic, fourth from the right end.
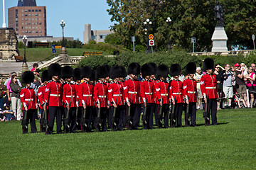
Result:
<instances>
[{"instance_id":1,"label":"front-row guard in red tunic, fourth from the right end","mask_svg":"<svg viewBox=\"0 0 256 170\"><path fill-rule=\"evenodd\" d=\"M166 81L168 76L168 67L165 64L160 64L156 69L157 78L156 81L156 111L158 127L162 128L162 115L164 114L164 128L169 128L168 114L169 114L169 83ZM161 113L161 107L162 112Z\"/></svg>"}]
</instances>

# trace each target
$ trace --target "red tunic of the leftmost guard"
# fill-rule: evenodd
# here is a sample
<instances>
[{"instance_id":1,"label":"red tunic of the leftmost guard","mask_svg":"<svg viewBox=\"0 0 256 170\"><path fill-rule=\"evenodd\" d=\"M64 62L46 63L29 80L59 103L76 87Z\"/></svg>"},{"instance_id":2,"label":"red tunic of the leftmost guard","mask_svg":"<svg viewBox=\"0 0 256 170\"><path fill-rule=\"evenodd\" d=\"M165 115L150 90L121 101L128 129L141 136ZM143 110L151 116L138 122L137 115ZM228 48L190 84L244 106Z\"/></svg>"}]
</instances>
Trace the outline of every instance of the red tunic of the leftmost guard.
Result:
<instances>
[{"instance_id":1,"label":"red tunic of the leftmost guard","mask_svg":"<svg viewBox=\"0 0 256 170\"><path fill-rule=\"evenodd\" d=\"M35 91L26 87L21 89L21 103L22 110L25 110L25 106L27 106L28 109L36 109L37 101Z\"/></svg>"}]
</instances>

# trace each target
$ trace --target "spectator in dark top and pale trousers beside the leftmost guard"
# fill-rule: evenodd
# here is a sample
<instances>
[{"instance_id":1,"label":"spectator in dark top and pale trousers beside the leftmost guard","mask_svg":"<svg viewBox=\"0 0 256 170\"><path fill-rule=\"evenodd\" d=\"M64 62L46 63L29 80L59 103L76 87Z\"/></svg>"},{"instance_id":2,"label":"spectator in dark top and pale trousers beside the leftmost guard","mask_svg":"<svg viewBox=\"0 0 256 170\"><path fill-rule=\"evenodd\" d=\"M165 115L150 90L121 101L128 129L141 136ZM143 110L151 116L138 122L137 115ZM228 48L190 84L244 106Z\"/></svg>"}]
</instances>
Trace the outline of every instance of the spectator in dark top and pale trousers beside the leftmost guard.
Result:
<instances>
[{"instance_id":1,"label":"spectator in dark top and pale trousers beside the leftmost guard","mask_svg":"<svg viewBox=\"0 0 256 170\"><path fill-rule=\"evenodd\" d=\"M11 108L14 111L16 120L21 120L21 87L18 85L16 75L11 77Z\"/></svg>"}]
</instances>

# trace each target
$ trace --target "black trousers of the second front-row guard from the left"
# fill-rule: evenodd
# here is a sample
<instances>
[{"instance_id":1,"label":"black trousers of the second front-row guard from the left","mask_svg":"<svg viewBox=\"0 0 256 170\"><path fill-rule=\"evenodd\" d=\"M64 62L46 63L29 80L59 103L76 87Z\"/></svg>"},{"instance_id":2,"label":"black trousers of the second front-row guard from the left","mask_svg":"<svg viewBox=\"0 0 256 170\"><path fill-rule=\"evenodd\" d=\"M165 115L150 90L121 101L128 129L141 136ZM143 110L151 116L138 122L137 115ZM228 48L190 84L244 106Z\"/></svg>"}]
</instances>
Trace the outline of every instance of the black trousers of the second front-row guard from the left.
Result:
<instances>
[{"instance_id":1,"label":"black trousers of the second front-row guard from the left","mask_svg":"<svg viewBox=\"0 0 256 170\"><path fill-rule=\"evenodd\" d=\"M61 118L62 118L62 113L63 108L60 106L50 106L49 107L49 115L48 115L48 131L46 132L46 134L53 134L53 125L54 125L54 120L56 117L56 130L57 133L60 134L62 133L61 130Z\"/></svg>"}]
</instances>

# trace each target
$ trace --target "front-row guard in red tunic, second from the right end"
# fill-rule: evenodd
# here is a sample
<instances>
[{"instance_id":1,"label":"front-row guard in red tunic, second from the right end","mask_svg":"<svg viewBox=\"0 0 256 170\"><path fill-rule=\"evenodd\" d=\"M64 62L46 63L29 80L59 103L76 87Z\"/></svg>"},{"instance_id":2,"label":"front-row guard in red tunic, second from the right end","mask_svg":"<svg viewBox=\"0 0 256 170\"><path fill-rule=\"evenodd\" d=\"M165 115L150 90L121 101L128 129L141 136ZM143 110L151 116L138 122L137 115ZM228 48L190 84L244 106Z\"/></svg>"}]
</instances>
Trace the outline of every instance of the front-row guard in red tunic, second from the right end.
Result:
<instances>
[{"instance_id":1,"label":"front-row guard in red tunic, second from the right end","mask_svg":"<svg viewBox=\"0 0 256 170\"><path fill-rule=\"evenodd\" d=\"M183 81L183 99L188 107L188 115L191 117L191 126L196 126L196 80L193 79L196 73L196 63L188 62L186 64L187 78ZM185 109L186 109L185 107ZM189 121L185 119L185 125L189 126Z\"/></svg>"}]
</instances>

